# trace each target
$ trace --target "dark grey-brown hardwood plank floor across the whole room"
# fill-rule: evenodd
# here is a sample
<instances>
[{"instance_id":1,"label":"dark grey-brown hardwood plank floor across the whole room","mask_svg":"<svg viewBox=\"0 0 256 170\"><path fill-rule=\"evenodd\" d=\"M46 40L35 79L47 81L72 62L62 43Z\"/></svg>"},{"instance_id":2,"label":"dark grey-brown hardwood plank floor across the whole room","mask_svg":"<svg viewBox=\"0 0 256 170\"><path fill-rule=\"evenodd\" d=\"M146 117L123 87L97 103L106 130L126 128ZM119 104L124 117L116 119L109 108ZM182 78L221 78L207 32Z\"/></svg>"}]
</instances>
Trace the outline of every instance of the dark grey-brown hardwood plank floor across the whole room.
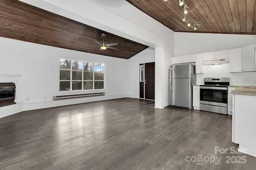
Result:
<instances>
[{"instance_id":1,"label":"dark grey-brown hardwood plank floor across the whole room","mask_svg":"<svg viewBox=\"0 0 256 170\"><path fill-rule=\"evenodd\" d=\"M255 170L231 128L230 115L132 98L24 111L0 119L0 169Z\"/></svg>"}]
</instances>

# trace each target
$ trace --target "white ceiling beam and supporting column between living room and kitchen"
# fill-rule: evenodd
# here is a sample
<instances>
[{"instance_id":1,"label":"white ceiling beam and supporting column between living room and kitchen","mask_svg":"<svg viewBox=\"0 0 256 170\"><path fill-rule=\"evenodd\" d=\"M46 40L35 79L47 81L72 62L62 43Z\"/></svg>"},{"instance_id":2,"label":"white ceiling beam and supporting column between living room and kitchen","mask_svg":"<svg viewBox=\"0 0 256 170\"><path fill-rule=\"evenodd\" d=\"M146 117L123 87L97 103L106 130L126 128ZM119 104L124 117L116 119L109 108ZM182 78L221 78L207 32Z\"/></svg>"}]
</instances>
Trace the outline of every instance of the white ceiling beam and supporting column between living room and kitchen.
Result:
<instances>
[{"instance_id":1,"label":"white ceiling beam and supporting column between living room and kitchen","mask_svg":"<svg viewBox=\"0 0 256 170\"><path fill-rule=\"evenodd\" d=\"M156 100L155 107L168 104L168 67L174 56L174 31L144 14L125 0L21 0L44 10L71 18L131 39L159 48L155 50ZM104 14L104 15L102 15Z\"/></svg>"}]
</instances>

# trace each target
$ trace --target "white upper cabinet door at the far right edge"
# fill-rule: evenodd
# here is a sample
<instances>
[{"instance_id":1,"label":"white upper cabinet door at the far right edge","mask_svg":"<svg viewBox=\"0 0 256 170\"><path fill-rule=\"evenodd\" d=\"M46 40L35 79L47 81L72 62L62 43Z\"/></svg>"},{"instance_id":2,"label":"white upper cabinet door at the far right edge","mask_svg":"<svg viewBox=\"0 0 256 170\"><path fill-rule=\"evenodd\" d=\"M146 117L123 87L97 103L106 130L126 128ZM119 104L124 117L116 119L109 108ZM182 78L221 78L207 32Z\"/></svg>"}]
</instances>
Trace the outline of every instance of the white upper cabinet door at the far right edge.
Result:
<instances>
[{"instance_id":1,"label":"white upper cabinet door at the far right edge","mask_svg":"<svg viewBox=\"0 0 256 170\"><path fill-rule=\"evenodd\" d=\"M242 72L255 71L254 44L242 47Z\"/></svg>"}]
</instances>

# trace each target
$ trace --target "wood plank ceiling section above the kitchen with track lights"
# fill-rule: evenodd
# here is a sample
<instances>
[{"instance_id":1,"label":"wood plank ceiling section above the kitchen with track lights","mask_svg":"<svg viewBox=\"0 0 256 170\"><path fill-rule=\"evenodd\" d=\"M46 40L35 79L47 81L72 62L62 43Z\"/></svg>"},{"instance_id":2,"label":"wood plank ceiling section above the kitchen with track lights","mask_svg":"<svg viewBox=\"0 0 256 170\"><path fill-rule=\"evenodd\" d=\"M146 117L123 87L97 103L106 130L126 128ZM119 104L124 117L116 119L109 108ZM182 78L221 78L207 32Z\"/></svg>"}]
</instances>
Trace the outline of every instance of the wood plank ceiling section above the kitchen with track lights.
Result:
<instances>
[{"instance_id":1,"label":"wood plank ceiling section above the kitchen with track lights","mask_svg":"<svg viewBox=\"0 0 256 170\"><path fill-rule=\"evenodd\" d=\"M255 0L126 0L166 27L178 32L256 34ZM191 26L187 26L188 20ZM199 24L194 30L194 23Z\"/></svg>"}]
</instances>

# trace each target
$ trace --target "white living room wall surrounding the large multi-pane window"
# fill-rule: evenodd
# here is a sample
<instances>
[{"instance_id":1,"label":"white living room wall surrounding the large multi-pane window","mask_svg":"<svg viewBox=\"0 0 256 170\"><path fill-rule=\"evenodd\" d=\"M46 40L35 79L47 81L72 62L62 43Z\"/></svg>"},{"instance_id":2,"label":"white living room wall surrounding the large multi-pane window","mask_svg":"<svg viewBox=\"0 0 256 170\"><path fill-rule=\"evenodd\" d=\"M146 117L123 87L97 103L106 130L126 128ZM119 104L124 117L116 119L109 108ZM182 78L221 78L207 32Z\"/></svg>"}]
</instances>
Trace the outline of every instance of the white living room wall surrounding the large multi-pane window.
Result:
<instances>
[{"instance_id":1,"label":"white living room wall surrounding the large multi-pane window","mask_svg":"<svg viewBox=\"0 0 256 170\"><path fill-rule=\"evenodd\" d=\"M18 78L16 102L24 102L24 110L62 106L96 100L126 97L128 92L128 60L68 49L28 43L0 37L0 74L22 74ZM59 57L106 63L106 89L59 92ZM52 101L52 96L105 92L106 96L80 100ZM29 98L29 101L26 101Z\"/></svg>"}]
</instances>

